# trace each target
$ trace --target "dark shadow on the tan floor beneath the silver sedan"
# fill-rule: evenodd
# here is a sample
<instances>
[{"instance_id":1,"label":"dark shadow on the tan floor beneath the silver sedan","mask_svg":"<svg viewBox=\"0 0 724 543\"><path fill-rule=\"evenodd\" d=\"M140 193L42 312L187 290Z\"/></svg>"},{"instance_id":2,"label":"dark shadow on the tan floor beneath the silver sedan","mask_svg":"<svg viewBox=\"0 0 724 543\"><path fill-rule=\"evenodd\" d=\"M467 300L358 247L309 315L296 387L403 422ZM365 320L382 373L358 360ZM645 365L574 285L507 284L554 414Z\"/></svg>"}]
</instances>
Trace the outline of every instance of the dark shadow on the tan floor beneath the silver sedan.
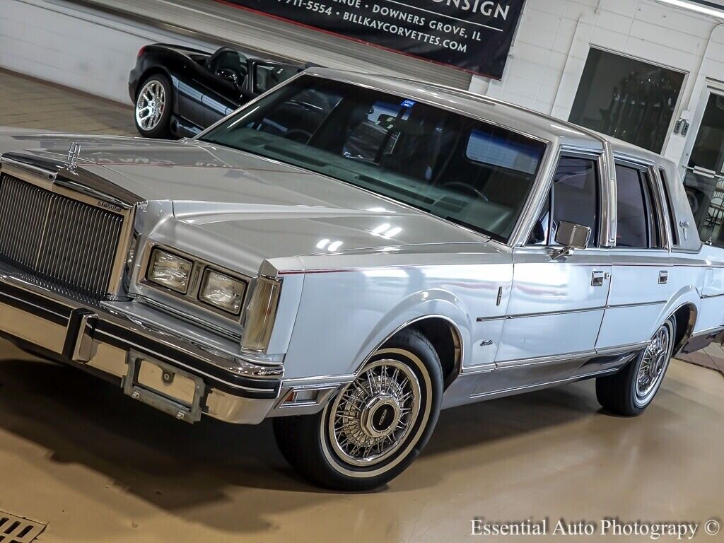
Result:
<instances>
[{"instance_id":1,"label":"dark shadow on the tan floor beneath the silver sedan","mask_svg":"<svg viewBox=\"0 0 724 543\"><path fill-rule=\"evenodd\" d=\"M584 383L443 411L423 457L484 448L592 416L597 409L592 384ZM50 450L54 462L87 466L125 492L219 529L267 529L270 510L340 499L295 475L277 451L268 422L232 426L205 418L188 425L70 367L0 361L0 427ZM487 461L485 455L479 461ZM387 492L439 483L437 470L421 471ZM236 487L234 497L230 487ZM239 499L239 489L248 499ZM258 489L284 491L285 498L279 502L279 492Z\"/></svg>"}]
</instances>

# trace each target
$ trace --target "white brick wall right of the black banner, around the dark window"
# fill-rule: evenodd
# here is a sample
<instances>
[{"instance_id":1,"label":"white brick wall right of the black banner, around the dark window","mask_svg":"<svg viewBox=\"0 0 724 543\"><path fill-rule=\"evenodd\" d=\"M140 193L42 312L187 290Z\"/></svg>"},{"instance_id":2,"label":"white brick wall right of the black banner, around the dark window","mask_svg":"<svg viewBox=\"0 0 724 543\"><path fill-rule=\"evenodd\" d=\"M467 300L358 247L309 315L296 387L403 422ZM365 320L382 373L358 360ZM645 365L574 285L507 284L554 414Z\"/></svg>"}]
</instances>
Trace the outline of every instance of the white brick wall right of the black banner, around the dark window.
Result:
<instances>
[{"instance_id":1,"label":"white brick wall right of the black banner, around the dark window","mask_svg":"<svg viewBox=\"0 0 724 543\"><path fill-rule=\"evenodd\" d=\"M526 0L502 81L474 77L471 90L568 119L597 46L687 72L675 118L691 118L707 77L724 81L722 22L654 0ZM684 143L671 135L665 154L686 159Z\"/></svg>"}]
</instances>

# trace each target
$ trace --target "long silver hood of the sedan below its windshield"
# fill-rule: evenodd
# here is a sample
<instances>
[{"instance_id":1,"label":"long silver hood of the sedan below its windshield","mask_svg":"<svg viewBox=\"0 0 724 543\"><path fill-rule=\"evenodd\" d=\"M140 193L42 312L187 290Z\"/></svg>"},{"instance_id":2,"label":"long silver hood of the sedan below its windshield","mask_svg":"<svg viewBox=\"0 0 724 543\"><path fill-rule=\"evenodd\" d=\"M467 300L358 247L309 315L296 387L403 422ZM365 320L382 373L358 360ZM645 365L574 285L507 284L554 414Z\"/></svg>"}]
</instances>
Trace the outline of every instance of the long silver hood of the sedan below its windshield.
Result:
<instances>
[{"instance_id":1,"label":"long silver hood of the sedan below its windshield","mask_svg":"<svg viewBox=\"0 0 724 543\"><path fill-rule=\"evenodd\" d=\"M66 161L146 201L255 261L391 245L481 243L482 235L324 175L196 140L0 134L0 153ZM228 246L228 245L227 245Z\"/></svg>"}]
</instances>

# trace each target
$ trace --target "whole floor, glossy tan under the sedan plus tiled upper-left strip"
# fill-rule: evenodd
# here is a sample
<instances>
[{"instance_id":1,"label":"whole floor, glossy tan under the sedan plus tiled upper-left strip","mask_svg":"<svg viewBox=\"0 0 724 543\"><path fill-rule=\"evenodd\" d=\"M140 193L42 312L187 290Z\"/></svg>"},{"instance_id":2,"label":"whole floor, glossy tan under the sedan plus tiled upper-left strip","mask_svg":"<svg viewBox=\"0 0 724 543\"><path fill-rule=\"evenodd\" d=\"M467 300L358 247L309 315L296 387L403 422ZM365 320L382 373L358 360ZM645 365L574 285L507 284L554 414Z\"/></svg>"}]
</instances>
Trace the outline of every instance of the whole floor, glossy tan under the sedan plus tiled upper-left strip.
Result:
<instances>
[{"instance_id":1,"label":"whole floor, glossy tan under the sedan plus tiled upper-left strip","mask_svg":"<svg viewBox=\"0 0 724 543\"><path fill-rule=\"evenodd\" d=\"M0 126L133 133L131 114L0 72ZM687 360L724 369L719 346ZM345 495L298 479L269 424L179 423L0 342L0 510L73 543L465 541L476 517L704 523L723 515L723 416L722 375L675 361L639 418L601 413L592 382L444 411L403 476Z\"/></svg>"}]
</instances>

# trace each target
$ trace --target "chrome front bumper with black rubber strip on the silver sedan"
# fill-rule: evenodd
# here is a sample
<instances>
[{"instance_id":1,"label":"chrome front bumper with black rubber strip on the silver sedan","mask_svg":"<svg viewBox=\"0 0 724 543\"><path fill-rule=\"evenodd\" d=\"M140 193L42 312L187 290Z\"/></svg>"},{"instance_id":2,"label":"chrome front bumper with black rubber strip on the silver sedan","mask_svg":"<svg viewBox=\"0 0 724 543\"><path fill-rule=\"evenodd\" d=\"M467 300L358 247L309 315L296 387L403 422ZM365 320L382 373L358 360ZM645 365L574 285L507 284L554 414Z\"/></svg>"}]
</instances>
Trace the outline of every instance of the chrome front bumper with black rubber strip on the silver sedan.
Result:
<instances>
[{"instance_id":1,"label":"chrome front bumper with black rubber strip on the silver sedan","mask_svg":"<svg viewBox=\"0 0 724 543\"><path fill-rule=\"evenodd\" d=\"M203 381L203 413L238 424L261 422L282 387L282 365L258 364L33 285L0 269L0 334L34 345L59 361L111 380L123 378L130 353L146 355ZM208 332L207 332L208 333Z\"/></svg>"}]
</instances>

